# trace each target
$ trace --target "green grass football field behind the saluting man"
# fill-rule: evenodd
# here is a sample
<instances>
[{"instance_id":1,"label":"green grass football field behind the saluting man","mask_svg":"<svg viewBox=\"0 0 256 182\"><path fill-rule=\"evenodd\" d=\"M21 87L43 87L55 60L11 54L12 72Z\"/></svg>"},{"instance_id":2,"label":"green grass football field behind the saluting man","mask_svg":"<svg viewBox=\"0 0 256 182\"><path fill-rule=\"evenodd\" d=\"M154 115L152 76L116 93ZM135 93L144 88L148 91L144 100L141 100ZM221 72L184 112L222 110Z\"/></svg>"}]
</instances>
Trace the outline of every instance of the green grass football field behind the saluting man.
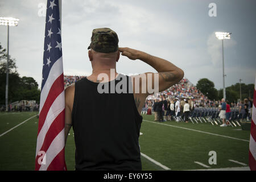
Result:
<instances>
[{"instance_id":1,"label":"green grass football field behind the saluting man","mask_svg":"<svg viewBox=\"0 0 256 182\"><path fill-rule=\"evenodd\" d=\"M0 170L34 170L38 118L36 113L0 113ZM19 123L22 125L15 127ZM13 130L5 133L6 131ZM250 131L241 127L212 126L210 123L154 122L143 115L141 152L171 170L243 167L248 164ZM3 134L3 135L2 135ZM217 164L210 165L209 151L216 151ZM65 158L68 170L75 168L75 142L70 131ZM234 163L235 160L240 163ZM164 170L142 156L143 170Z\"/></svg>"}]
</instances>

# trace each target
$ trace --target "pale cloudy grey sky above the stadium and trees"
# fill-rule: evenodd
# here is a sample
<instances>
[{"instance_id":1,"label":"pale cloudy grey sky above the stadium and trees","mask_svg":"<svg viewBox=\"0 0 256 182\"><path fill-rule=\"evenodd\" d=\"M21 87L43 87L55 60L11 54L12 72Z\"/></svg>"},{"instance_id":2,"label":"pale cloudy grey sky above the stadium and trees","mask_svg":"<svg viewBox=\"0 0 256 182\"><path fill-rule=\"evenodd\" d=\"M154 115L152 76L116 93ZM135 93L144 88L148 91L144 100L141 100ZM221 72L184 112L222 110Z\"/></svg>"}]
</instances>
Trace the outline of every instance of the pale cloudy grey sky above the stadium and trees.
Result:
<instances>
[{"instance_id":1,"label":"pale cloudy grey sky above the stadium and trees","mask_svg":"<svg viewBox=\"0 0 256 182\"><path fill-rule=\"evenodd\" d=\"M55 0L56 1L56 0ZM47 1L1 0L0 16L19 18L10 27L10 55L20 76L41 85ZM215 3L216 15L209 16ZM162 57L183 69L193 84L200 78L222 87L221 40L216 31L232 32L224 40L226 86L241 78L254 84L256 73L256 1L115 1L63 0L62 47L65 75L90 75L87 47L94 28L109 27L118 34L119 47L130 47ZM47 18L48 19L48 18ZM0 43L7 47L7 27L0 26ZM156 72L140 60L121 57L117 72Z\"/></svg>"}]
</instances>

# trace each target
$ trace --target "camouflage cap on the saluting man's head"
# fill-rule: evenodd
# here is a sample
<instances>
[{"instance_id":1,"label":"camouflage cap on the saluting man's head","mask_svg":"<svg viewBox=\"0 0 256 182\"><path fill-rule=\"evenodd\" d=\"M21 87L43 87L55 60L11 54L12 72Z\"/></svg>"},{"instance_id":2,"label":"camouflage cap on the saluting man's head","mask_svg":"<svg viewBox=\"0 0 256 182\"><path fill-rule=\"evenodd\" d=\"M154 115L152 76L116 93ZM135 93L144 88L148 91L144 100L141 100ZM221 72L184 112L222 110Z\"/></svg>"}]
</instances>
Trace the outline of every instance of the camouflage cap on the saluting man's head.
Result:
<instances>
[{"instance_id":1,"label":"camouflage cap on the saluting man's head","mask_svg":"<svg viewBox=\"0 0 256 182\"><path fill-rule=\"evenodd\" d=\"M92 48L97 52L110 53L118 50L118 36L110 28L96 28L92 32L91 43L88 49Z\"/></svg>"}]
</instances>

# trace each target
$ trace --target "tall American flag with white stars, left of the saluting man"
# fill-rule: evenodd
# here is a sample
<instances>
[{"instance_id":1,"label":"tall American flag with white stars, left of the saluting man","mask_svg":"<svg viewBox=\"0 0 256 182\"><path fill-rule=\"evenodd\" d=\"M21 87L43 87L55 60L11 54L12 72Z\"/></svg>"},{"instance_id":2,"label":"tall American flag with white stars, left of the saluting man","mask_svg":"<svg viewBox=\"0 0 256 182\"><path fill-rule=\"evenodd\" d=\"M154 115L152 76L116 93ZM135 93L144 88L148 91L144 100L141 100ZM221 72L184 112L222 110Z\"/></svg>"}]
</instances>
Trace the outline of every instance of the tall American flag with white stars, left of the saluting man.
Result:
<instances>
[{"instance_id":1,"label":"tall American flag with white stars, left of the saluting man","mask_svg":"<svg viewBox=\"0 0 256 182\"><path fill-rule=\"evenodd\" d=\"M47 1L35 170L66 170L65 96L59 1Z\"/></svg>"}]
</instances>

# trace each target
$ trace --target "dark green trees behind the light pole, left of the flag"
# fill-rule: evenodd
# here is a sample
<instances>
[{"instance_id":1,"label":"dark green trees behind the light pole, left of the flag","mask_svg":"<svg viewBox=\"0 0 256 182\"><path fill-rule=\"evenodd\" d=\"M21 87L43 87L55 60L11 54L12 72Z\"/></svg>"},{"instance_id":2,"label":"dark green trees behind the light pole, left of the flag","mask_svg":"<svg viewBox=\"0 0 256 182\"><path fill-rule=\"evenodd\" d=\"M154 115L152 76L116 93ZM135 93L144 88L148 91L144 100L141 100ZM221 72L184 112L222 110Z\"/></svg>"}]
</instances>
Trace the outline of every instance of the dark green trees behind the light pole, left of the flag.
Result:
<instances>
[{"instance_id":1,"label":"dark green trees behind the light pole, left of the flag","mask_svg":"<svg viewBox=\"0 0 256 182\"><path fill-rule=\"evenodd\" d=\"M7 51L0 43L0 105L5 105ZM9 104L21 100L35 100L39 103L40 90L32 77L20 77L16 60L9 55Z\"/></svg>"}]
</instances>

